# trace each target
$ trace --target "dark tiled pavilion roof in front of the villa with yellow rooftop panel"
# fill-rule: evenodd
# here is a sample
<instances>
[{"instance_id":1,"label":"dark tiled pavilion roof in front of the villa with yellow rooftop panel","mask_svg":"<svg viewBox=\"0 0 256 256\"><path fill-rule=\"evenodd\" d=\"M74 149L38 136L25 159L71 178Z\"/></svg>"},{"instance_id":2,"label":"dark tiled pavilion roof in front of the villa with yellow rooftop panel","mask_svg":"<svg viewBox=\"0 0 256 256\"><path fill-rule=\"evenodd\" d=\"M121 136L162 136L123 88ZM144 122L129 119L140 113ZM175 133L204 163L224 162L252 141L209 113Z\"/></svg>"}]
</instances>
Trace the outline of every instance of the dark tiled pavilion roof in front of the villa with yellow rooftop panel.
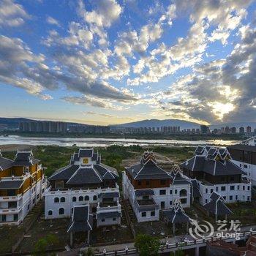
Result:
<instances>
[{"instance_id":1,"label":"dark tiled pavilion roof in front of the villa with yellow rooftop panel","mask_svg":"<svg viewBox=\"0 0 256 256\"><path fill-rule=\"evenodd\" d=\"M68 232L84 232L92 230L93 217L89 214L89 206L75 206Z\"/></svg>"}]
</instances>

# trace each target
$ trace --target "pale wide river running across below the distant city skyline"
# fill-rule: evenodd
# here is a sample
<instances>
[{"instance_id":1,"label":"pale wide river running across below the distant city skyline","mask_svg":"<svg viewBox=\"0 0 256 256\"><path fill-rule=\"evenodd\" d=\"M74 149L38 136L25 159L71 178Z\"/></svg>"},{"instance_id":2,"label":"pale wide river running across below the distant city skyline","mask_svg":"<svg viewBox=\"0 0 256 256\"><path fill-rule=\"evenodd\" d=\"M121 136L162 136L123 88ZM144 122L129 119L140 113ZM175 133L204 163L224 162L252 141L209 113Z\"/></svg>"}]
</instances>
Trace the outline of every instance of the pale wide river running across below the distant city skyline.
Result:
<instances>
[{"instance_id":1,"label":"pale wide river running across below the distant city skyline","mask_svg":"<svg viewBox=\"0 0 256 256\"><path fill-rule=\"evenodd\" d=\"M229 146L239 143L238 140L148 140L148 139L125 139L125 138L38 138L21 137L10 135L8 137L0 136L1 145L57 145L57 146L110 146L110 145L165 145L165 146L197 146L197 145L222 145Z\"/></svg>"}]
</instances>

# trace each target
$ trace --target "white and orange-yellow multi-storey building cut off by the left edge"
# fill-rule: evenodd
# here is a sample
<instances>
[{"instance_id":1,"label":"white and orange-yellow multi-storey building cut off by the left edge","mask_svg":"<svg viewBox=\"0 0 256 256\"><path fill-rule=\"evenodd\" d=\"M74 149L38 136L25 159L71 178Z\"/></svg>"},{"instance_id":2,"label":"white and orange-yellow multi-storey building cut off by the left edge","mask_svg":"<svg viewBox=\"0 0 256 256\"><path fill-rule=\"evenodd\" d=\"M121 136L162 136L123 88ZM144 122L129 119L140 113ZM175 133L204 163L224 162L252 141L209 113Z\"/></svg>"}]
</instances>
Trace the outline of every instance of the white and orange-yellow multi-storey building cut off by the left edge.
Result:
<instances>
[{"instance_id":1,"label":"white and orange-yellow multi-storey building cut off by the left edge","mask_svg":"<svg viewBox=\"0 0 256 256\"><path fill-rule=\"evenodd\" d=\"M32 151L18 151L15 159L0 152L0 226L19 225L42 199L46 180Z\"/></svg>"}]
</instances>

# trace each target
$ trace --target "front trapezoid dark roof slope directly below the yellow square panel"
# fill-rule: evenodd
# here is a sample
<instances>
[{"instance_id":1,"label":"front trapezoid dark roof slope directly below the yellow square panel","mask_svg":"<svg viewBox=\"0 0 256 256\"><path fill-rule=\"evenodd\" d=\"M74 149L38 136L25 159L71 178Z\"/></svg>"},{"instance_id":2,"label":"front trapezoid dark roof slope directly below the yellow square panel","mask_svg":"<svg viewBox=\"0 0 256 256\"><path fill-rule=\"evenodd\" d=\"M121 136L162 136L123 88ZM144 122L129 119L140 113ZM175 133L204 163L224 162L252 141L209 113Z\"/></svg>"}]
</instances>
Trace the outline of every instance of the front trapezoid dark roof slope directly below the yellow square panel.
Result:
<instances>
[{"instance_id":1,"label":"front trapezoid dark roof slope directly below the yellow square panel","mask_svg":"<svg viewBox=\"0 0 256 256\"><path fill-rule=\"evenodd\" d=\"M69 178L67 184L99 184L102 178L93 167L79 167Z\"/></svg>"}]
</instances>

